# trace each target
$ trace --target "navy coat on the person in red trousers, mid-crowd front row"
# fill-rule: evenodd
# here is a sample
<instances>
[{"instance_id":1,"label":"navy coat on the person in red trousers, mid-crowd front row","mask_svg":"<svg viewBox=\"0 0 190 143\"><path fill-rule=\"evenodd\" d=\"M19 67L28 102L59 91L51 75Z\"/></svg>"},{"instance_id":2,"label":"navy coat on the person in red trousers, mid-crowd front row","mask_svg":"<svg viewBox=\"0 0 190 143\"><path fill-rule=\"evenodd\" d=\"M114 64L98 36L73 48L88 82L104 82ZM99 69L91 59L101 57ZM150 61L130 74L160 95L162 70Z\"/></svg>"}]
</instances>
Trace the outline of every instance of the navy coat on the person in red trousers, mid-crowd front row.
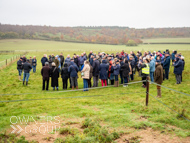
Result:
<instances>
[{"instance_id":1,"label":"navy coat on the person in red trousers, mid-crowd front row","mask_svg":"<svg viewBox=\"0 0 190 143\"><path fill-rule=\"evenodd\" d=\"M109 69L109 65L106 63L105 60L103 60L99 67L100 79L108 78L108 69Z\"/></svg>"}]
</instances>

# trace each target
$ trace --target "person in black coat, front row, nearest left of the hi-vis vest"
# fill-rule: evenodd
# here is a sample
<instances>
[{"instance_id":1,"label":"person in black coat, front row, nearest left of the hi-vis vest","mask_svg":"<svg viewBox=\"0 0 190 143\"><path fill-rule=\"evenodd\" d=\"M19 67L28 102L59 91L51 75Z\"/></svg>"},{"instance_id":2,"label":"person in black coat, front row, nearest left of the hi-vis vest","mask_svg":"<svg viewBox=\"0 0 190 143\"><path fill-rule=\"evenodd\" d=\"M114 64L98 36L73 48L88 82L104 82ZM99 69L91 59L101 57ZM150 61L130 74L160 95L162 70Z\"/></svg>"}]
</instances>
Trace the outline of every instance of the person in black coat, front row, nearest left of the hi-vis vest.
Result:
<instances>
[{"instance_id":1,"label":"person in black coat, front row, nearest left of the hi-vis vest","mask_svg":"<svg viewBox=\"0 0 190 143\"><path fill-rule=\"evenodd\" d=\"M121 71L122 71L123 78L124 78L123 87L126 87L126 86L128 86L127 83L129 81L130 68L129 68L128 60L126 59L124 62L125 63L121 66Z\"/></svg>"}]
</instances>

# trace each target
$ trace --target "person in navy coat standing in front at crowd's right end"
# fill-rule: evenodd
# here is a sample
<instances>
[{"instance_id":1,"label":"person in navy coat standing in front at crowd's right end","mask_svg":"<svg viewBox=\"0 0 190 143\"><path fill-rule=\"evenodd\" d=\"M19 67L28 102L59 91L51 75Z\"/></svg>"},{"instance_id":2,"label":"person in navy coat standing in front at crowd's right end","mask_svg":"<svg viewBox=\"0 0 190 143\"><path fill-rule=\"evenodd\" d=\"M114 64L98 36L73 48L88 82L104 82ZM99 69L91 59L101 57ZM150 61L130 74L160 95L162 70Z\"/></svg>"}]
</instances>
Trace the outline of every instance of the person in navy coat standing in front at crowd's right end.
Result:
<instances>
[{"instance_id":1,"label":"person in navy coat standing in front at crowd's right end","mask_svg":"<svg viewBox=\"0 0 190 143\"><path fill-rule=\"evenodd\" d=\"M182 60L179 59L179 57L177 57L173 66L174 66L174 74L176 77L176 84L180 84L181 83L181 75L182 75L182 71L183 71Z\"/></svg>"}]
</instances>

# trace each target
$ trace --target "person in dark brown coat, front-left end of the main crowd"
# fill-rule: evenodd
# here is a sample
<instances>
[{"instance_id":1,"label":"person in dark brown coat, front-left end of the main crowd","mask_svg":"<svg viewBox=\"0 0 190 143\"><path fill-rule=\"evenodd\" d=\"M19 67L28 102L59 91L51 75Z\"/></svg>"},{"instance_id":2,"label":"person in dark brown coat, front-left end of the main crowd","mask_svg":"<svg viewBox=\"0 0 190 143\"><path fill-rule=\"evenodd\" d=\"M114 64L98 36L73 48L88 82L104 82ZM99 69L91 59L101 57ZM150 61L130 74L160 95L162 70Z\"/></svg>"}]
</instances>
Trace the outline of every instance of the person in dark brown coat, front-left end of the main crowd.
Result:
<instances>
[{"instance_id":1,"label":"person in dark brown coat, front-left end of the main crowd","mask_svg":"<svg viewBox=\"0 0 190 143\"><path fill-rule=\"evenodd\" d=\"M49 68L48 62L46 62L45 66L42 67L41 75L42 75L42 80L43 80L42 90L45 90L45 83L46 83L46 90L48 90L48 88L49 88L49 77L50 77L50 68Z\"/></svg>"}]
</instances>

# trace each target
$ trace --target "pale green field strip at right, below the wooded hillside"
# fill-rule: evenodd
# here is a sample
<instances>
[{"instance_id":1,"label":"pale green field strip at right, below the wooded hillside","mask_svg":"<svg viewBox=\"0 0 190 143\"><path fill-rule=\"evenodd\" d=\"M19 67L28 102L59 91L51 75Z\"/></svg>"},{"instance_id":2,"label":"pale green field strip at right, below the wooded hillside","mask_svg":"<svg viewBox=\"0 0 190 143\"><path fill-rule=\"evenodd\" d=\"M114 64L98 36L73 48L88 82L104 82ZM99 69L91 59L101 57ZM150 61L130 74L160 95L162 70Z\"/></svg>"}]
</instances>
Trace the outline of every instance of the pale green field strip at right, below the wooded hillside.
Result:
<instances>
[{"instance_id":1,"label":"pale green field strip at right, below the wooded hillside","mask_svg":"<svg viewBox=\"0 0 190 143\"><path fill-rule=\"evenodd\" d=\"M144 43L190 43L190 38L153 38L142 39Z\"/></svg>"}]
</instances>

